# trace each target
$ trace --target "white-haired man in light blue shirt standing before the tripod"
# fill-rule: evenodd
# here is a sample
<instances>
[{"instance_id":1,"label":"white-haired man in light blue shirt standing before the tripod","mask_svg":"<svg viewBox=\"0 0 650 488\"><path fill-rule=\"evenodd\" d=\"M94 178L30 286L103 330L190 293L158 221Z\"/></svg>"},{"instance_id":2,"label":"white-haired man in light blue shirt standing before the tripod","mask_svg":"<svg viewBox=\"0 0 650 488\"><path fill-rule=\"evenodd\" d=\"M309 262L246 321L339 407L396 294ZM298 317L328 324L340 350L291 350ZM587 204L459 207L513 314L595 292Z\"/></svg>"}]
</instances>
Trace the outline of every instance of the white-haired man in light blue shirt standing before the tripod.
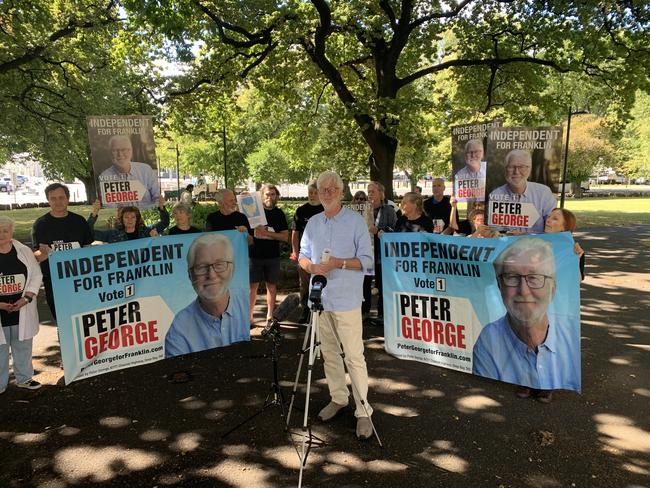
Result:
<instances>
[{"instance_id":1,"label":"white-haired man in light blue shirt standing before the tripod","mask_svg":"<svg viewBox=\"0 0 650 488\"><path fill-rule=\"evenodd\" d=\"M359 439L368 439L372 435L369 418L372 408L366 402L368 371L363 356L361 324L364 270L372 267L373 263L368 225L357 212L341 206L343 181L338 174L321 173L316 185L324 211L307 222L300 241L299 263L310 275L327 277L327 286L322 294L324 312L321 314L320 337L331 401L320 411L318 418L324 422L331 420L348 404L345 368L333 332L336 330L353 385L356 434ZM329 261L321 262L325 249L330 250L331 257Z\"/></svg>"}]
</instances>

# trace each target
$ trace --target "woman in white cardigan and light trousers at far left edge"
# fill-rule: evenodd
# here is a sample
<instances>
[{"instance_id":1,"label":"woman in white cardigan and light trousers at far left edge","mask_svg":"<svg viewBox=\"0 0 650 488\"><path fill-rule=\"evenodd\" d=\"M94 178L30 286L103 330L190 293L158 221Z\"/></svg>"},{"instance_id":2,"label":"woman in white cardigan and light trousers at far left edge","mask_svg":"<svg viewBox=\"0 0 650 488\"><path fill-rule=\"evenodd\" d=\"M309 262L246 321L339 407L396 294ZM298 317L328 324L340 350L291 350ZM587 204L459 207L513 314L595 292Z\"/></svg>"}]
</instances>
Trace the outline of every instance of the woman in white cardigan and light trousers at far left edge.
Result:
<instances>
[{"instance_id":1,"label":"woman in white cardigan and light trousers at far left edge","mask_svg":"<svg viewBox=\"0 0 650 488\"><path fill-rule=\"evenodd\" d=\"M0 394L9 383L9 349L16 386L36 390L32 338L38 334L36 295L43 275L31 249L13 238L14 221L0 216Z\"/></svg>"}]
</instances>

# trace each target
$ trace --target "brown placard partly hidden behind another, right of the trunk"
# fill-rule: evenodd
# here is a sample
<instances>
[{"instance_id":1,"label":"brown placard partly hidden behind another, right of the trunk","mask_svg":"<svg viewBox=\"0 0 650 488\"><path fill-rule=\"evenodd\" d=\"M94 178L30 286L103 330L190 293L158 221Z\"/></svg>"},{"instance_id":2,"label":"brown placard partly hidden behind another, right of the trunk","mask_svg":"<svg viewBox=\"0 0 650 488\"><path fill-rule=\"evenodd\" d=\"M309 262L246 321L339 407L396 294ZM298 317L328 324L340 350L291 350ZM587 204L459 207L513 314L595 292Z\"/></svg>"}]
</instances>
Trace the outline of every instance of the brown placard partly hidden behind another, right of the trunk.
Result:
<instances>
[{"instance_id":1,"label":"brown placard partly hidden behind another, right of the trunk","mask_svg":"<svg viewBox=\"0 0 650 488\"><path fill-rule=\"evenodd\" d=\"M456 125L451 128L451 168L454 196L459 202L485 200L487 159L485 145L488 130L501 121Z\"/></svg>"}]
</instances>

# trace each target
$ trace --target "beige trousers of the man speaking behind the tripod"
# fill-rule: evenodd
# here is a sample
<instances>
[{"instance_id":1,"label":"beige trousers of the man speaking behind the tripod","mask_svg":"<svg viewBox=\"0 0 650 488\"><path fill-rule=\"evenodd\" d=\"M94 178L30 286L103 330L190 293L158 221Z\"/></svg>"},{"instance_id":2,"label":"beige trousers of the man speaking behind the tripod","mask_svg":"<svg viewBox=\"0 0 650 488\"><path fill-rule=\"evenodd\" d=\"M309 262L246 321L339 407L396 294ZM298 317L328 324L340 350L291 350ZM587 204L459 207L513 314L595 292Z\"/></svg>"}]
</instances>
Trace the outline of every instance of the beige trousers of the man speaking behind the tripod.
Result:
<instances>
[{"instance_id":1,"label":"beige trousers of the man speaking behind the tripod","mask_svg":"<svg viewBox=\"0 0 650 488\"><path fill-rule=\"evenodd\" d=\"M368 397L368 369L363 356L363 330L361 322L361 308L348 312L323 312L320 315L319 329L321 352L325 360L325 378L332 401L339 405L347 405L350 392L345 378L345 367L341 358L341 351L336 336L332 332L336 329L348 365L350 380L353 383L352 393L356 403L355 417L372 415L372 407L367 401ZM355 387L358 391L355 391ZM366 403L364 410L361 400Z\"/></svg>"}]
</instances>

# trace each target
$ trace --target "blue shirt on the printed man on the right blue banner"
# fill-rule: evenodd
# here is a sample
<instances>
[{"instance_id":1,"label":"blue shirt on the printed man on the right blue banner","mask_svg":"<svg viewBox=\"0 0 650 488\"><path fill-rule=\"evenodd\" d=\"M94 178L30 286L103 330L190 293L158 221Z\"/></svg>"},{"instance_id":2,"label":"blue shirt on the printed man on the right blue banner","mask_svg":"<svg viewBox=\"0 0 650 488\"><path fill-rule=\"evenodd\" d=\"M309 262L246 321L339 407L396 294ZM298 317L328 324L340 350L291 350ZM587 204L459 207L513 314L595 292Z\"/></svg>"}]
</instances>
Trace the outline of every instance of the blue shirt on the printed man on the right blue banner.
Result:
<instances>
[{"instance_id":1,"label":"blue shirt on the printed man on the right blue banner","mask_svg":"<svg viewBox=\"0 0 650 488\"><path fill-rule=\"evenodd\" d=\"M548 314L546 339L537 352L524 344L507 314L486 325L474 345L474 374L541 390L580 391L579 319Z\"/></svg>"}]
</instances>

